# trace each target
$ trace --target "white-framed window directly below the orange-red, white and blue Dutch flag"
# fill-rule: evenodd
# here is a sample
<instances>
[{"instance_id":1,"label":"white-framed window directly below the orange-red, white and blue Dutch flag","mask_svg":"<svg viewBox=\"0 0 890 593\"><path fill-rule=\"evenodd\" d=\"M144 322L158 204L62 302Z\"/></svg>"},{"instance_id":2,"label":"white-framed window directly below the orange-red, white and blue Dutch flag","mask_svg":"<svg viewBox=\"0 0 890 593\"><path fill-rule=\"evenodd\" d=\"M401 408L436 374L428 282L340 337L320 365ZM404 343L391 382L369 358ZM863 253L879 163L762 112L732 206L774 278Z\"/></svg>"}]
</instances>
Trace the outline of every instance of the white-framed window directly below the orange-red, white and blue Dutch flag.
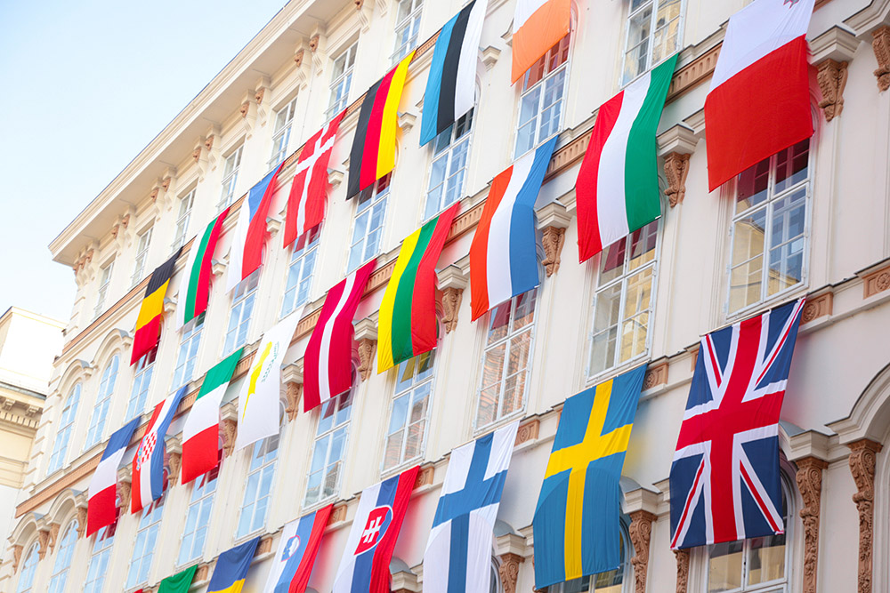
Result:
<instances>
[{"instance_id":1,"label":"white-framed window directly below the orange-red, white and blue Dutch flag","mask_svg":"<svg viewBox=\"0 0 890 593\"><path fill-rule=\"evenodd\" d=\"M536 293L537 289L524 292L489 312L476 429L519 412L525 405Z\"/></svg>"}]
</instances>

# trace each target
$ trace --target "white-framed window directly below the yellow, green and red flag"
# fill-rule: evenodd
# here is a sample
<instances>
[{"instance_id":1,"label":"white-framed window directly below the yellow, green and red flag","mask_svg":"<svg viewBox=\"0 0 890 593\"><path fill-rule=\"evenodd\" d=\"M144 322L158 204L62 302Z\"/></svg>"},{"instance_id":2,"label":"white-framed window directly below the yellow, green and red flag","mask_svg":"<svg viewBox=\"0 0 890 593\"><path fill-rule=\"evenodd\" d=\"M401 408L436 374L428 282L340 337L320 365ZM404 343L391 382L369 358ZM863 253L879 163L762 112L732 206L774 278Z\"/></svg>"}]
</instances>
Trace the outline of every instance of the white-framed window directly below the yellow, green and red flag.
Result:
<instances>
[{"instance_id":1,"label":"white-framed window directly below the yellow, green and red flag","mask_svg":"<svg viewBox=\"0 0 890 593\"><path fill-rule=\"evenodd\" d=\"M384 471L417 459L423 453L434 365L435 350L399 365L390 426L386 431Z\"/></svg>"}]
</instances>

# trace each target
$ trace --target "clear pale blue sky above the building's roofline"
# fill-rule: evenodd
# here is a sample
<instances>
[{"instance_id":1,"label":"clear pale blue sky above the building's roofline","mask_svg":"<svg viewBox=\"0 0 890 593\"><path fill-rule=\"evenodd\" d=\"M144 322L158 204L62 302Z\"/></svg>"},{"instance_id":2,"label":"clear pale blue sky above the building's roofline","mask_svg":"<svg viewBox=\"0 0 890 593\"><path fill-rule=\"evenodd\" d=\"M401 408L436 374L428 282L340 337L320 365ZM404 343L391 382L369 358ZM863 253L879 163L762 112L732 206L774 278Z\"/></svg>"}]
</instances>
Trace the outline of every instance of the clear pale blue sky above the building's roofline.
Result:
<instances>
[{"instance_id":1,"label":"clear pale blue sky above the building's roofline","mask_svg":"<svg viewBox=\"0 0 890 593\"><path fill-rule=\"evenodd\" d=\"M0 0L0 312L67 322L47 245L286 0Z\"/></svg>"}]
</instances>

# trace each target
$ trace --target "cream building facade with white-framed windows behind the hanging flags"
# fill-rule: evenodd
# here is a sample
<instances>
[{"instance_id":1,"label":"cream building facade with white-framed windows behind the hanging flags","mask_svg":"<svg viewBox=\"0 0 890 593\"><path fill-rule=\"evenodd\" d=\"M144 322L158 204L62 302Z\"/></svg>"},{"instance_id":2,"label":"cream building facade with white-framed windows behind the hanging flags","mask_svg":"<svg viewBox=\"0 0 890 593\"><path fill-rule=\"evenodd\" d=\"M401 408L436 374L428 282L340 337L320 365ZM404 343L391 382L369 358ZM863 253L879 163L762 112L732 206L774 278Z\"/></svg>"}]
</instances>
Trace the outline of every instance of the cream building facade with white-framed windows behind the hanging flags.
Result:
<instances>
[{"instance_id":1,"label":"cream building facade with white-framed windows behind the hanging flags","mask_svg":"<svg viewBox=\"0 0 890 593\"><path fill-rule=\"evenodd\" d=\"M492 591L534 589L532 517L562 402L648 365L627 451L622 567L554 593L811 593L890 588L890 1L819 0L807 38L816 132L708 193L702 108L726 21L746 0L573 0L571 32L510 84L515 0L489 0L473 112L418 147L434 36L462 0L294 0L135 156L51 244L77 296L53 364L0 565L9 592L135 591L263 537L246 590L263 587L282 525L336 504L310 587L331 589L358 495L421 465L392 590L423 588L423 554L448 453L520 421ZM245 10L249 10L246 7ZM417 47L396 167L355 199L344 176L360 97ZM663 216L583 265L574 184L595 111L679 52L659 126ZM281 248L295 152L344 108L320 231ZM538 289L470 321L468 257L490 180L559 136L538 197ZM224 290L230 215L206 315L174 326L183 250L159 347L127 365L150 271L287 158L263 266ZM439 261L440 341L376 373L376 312L401 241L455 201ZM299 412L303 351L325 292L377 257L356 317L352 390ZM672 553L667 477L702 334L807 296L782 410L787 531ZM281 431L234 451L233 401L263 331L305 305L287 351ZM565 313L565 315L563 315ZM884 328L884 329L882 329ZM206 371L239 347L224 399L223 462L178 482L182 422ZM189 385L166 439L168 488L138 515L118 472L117 524L85 537L86 490L111 432Z\"/></svg>"}]
</instances>

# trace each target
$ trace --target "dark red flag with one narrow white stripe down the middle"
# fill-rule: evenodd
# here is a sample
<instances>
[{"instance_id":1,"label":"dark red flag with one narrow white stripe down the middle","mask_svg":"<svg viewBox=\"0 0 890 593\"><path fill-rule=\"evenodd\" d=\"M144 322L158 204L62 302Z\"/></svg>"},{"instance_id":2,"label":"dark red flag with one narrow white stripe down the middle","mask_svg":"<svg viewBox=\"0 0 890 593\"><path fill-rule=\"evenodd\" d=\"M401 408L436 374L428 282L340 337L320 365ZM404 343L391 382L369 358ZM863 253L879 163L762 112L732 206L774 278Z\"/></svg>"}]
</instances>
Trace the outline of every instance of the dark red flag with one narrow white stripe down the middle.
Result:
<instances>
[{"instance_id":1,"label":"dark red flag with one narrow white stripe down the middle","mask_svg":"<svg viewBox=\"0 0 890 593\"><path fill-rule=\"evenodd\" d=\"M359 308L376 259L368 261L328 291L303 357L303 410L352 387L352 318Z\"/></svg>"}]
</instances>

